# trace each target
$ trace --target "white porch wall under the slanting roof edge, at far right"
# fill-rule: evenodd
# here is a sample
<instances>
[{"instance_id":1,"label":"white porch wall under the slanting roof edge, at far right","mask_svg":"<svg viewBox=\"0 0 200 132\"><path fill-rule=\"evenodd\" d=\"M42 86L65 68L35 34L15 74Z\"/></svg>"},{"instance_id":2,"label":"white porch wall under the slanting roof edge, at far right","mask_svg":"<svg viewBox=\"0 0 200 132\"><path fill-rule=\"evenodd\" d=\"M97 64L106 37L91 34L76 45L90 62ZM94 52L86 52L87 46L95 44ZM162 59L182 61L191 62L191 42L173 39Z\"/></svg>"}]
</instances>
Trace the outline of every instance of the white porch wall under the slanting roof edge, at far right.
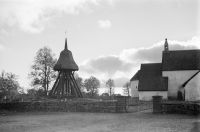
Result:
<instances>
[{"instance_id":1,"label":"white porch wall under the slanting roof edge, at far right","mask_svg":"<svg viewBox=\"0 0 200 132\"><path fill-rule=\"evenodd\" d=\"M185 101L200 100L200 73L185 86Z\"/></svg>"}]
</instances>

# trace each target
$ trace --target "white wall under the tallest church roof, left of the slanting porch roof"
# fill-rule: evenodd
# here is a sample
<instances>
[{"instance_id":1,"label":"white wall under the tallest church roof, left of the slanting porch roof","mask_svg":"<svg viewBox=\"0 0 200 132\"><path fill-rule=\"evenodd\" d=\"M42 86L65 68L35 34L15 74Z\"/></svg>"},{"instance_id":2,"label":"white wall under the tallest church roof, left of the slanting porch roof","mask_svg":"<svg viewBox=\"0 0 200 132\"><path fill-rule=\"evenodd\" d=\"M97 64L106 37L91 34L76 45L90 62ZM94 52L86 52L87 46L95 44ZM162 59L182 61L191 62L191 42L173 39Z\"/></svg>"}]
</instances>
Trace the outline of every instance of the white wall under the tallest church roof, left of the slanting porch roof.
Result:
<instances>
[{"instance_id":1,"label":"white wall under the tallest church roof, left of the slanting porch roof","mask_svg":"<svg viewBox=\"0 0 200 132\"><path fill-rule=\"evenodd\" d=\"M177 98L181 85L192 77L198 70L188 71L163 71L162 76L168 77L168 97Z\"/></svg>"}]
</instances>

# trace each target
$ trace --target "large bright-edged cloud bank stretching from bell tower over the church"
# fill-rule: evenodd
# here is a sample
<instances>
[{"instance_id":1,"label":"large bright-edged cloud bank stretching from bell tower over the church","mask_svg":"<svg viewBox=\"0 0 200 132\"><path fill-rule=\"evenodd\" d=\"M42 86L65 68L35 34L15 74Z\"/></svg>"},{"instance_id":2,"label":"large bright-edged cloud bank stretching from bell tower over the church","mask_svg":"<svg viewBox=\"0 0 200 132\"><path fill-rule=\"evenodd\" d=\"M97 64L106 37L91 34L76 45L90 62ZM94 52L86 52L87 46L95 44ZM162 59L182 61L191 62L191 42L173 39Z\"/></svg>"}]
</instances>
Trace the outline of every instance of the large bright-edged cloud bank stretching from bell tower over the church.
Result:
<instances>
[{"instance_id":1,"label":"large bright-edged cloud bank stretching from bell tower over the church","mask_svg":"<svg viewBox=\"0 0 200 132\"><path fill-rule=\"evenodd\" d=\"M79 74L83 78L95 76L104 87L109 78L115 80L116 87L123 84L140 69L141 63L162 62L164 40L150 47L125 49L119 55L100 56L88 59L79 65ZM169 50L199 49L200 37L193 37L187 42L168 40Z\"/></svg>"}]
</instances>

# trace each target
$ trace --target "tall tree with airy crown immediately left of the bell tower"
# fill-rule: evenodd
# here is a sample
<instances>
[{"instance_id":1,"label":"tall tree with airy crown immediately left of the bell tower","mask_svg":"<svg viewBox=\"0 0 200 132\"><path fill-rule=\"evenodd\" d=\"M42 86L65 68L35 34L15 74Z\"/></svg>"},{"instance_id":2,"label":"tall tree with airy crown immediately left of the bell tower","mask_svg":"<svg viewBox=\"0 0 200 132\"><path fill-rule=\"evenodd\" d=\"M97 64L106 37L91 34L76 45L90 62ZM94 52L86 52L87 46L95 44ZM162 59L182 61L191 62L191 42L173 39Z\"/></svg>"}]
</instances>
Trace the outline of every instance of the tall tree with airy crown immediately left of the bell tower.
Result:
<instances>
[{"instance_id":1,"label":"tall tree with airy crown immediately left of the bell tower","mask_svg":"<svg viewBox=\"0 0 200 132\"><path fill-rule=\"evenodd\" d=\"M33 65L31 65L31 72L29 74L29 78L32 79L31 85L35 88L43 88L46 95L50 83L55 80L57 75L53 70L56 62L55 54L52 53L49 47L44 46L39 49L34 58Z\"/></svg>"}]
</instances>

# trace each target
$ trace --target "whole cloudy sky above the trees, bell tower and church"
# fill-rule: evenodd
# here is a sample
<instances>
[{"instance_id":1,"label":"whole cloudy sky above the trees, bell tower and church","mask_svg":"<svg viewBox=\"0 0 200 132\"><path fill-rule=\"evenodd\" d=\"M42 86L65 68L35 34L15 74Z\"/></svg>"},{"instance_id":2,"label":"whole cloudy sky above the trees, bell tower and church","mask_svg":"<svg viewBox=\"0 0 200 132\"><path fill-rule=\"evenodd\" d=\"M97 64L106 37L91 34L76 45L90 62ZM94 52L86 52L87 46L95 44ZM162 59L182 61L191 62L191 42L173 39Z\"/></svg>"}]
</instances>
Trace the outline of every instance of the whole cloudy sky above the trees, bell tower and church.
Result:
<instances>
[{"instance_id":1,"label":"whole cloudy sky above the trees, bell tower and church","mask_svg":"<svg viewBox=\"0 0 200 132\"><path fill-rule=\"evenodd\" d=\"M31 88L37 51L59 58L67 37L77 73L102 93L109 78L120 88L141 63L161 62L165 38L169 50L199 49L199 23L198 0L0 0L0 72Z\"/></svg>"}]
</instances>

